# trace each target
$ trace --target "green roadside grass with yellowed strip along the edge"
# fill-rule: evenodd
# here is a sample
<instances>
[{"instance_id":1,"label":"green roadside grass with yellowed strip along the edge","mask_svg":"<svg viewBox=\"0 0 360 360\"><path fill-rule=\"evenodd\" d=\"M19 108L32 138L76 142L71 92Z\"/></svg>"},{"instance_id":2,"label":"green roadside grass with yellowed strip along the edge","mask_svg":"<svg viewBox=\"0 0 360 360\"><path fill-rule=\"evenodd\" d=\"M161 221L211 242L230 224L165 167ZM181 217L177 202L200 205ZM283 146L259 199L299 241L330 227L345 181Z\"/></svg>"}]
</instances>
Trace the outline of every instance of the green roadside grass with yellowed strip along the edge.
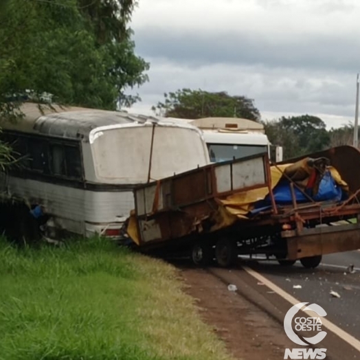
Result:
<instances>
[{"instance_id":1,"label":"green roadside grass with yellowed strip along the edge","mask_svg":"<svg viewBox=\"0 0 360 360\"><path fill-rule=\"evenodd\" d=\"M229 359L176 270L103 239L0 240L0 359Z\"/></svg>"}]
</instances>

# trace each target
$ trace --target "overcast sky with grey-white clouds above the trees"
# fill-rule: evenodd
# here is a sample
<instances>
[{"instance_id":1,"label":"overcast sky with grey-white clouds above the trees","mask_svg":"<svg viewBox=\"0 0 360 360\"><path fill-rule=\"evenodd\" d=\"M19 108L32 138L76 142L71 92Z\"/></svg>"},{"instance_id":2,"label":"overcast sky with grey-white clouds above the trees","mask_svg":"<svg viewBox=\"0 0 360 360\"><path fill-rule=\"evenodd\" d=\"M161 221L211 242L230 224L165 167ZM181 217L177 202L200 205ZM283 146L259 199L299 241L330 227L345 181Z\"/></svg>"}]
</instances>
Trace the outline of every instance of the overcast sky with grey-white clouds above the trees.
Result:
<instances>
[{"instance_id":1,"label":"overcast sky with grey-white clouds above the trees","mask_svg":"<svg viewBox=\"0 0 360 360\"><path fill-rule=\"evenodd\" d=\"M133 112L189 87L246 95L264 120L354 121L359 0L139 0L131 27L150 62Z\"/></svg>"}]
</instances>

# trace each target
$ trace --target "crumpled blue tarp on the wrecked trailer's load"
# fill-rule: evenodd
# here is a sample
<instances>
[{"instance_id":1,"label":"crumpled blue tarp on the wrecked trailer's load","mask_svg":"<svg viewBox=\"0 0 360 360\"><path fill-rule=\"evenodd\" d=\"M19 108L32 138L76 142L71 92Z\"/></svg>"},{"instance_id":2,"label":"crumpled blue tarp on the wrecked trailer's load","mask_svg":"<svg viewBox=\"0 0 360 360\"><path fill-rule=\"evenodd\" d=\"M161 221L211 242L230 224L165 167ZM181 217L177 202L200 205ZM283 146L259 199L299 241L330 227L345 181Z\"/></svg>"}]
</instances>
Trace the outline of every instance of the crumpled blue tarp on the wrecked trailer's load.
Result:
<instances>
[{"instance_id":1,"label":"crumpled blue tarp on the wrecked trailer's load","mask_svg":"<svg viewBox=\"0 0 360 360\"><path fill-rule=\"evenodd\" d=\"M294 186L295 198L297 203L307 203L310 200ZM319 191L315 196L311 196L311 189L307 189L306 194L314 201L341 201L346 199L346 193L341 189L331 176L330 171L326 171L322 180L319 183ZM292 203L290 182L287 179L282 179L273 189L273 196L275 203L278 205L289 205ZM254 210L249 212L249 216L254 216L258 212L269 210L271 208L271 199L267 195L264 200L258 201L255 204Z\"/></svg>"}]
</instances>

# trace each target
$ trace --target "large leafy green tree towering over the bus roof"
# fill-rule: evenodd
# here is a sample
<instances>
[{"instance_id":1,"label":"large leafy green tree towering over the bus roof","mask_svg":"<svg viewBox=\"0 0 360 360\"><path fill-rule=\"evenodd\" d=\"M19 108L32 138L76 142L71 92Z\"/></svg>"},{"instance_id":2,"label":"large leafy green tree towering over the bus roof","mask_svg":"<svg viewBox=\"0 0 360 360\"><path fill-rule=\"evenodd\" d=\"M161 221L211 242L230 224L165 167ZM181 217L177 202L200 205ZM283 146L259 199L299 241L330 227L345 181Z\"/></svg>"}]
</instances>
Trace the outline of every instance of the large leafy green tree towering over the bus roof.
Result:
<instances>
[{"instance_id":1,"label":"large leafy green tree towering over the bus roof","mask_svg":"<svg viewBox=\"0 0 360 360\"><path fill-rule=\"evenodd\" d=\"M123 6L124 5L124 6ZM0 18L0 109L31 89L54 101L100 109L129 106L148 63L135 56L132 0L7 0Z\"/></svg>"}]
</instances>

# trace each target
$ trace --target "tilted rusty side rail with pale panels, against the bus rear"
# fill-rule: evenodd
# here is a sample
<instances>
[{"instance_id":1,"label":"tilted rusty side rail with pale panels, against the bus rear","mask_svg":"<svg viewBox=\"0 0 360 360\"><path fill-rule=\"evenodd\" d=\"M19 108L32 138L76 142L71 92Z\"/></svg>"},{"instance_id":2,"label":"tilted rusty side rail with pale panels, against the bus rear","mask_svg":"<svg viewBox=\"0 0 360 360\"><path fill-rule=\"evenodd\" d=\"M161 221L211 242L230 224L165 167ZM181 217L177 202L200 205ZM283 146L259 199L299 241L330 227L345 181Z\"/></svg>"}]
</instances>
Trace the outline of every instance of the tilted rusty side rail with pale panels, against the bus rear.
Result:
<instances>
[{"instance_id":1,"label":"tilted rusty side rail with pale panels, against the bus rear","mask_svg":"<svg viewBox=\"0 0 360 360\"><path fill-rule=\"evenodd\" d=\"M265 187L271 191L267 153L210 164L139 185L134 190L139 244L164 243L207 232L218 211L216 199Z\"/></svg>"}]
</instances>

